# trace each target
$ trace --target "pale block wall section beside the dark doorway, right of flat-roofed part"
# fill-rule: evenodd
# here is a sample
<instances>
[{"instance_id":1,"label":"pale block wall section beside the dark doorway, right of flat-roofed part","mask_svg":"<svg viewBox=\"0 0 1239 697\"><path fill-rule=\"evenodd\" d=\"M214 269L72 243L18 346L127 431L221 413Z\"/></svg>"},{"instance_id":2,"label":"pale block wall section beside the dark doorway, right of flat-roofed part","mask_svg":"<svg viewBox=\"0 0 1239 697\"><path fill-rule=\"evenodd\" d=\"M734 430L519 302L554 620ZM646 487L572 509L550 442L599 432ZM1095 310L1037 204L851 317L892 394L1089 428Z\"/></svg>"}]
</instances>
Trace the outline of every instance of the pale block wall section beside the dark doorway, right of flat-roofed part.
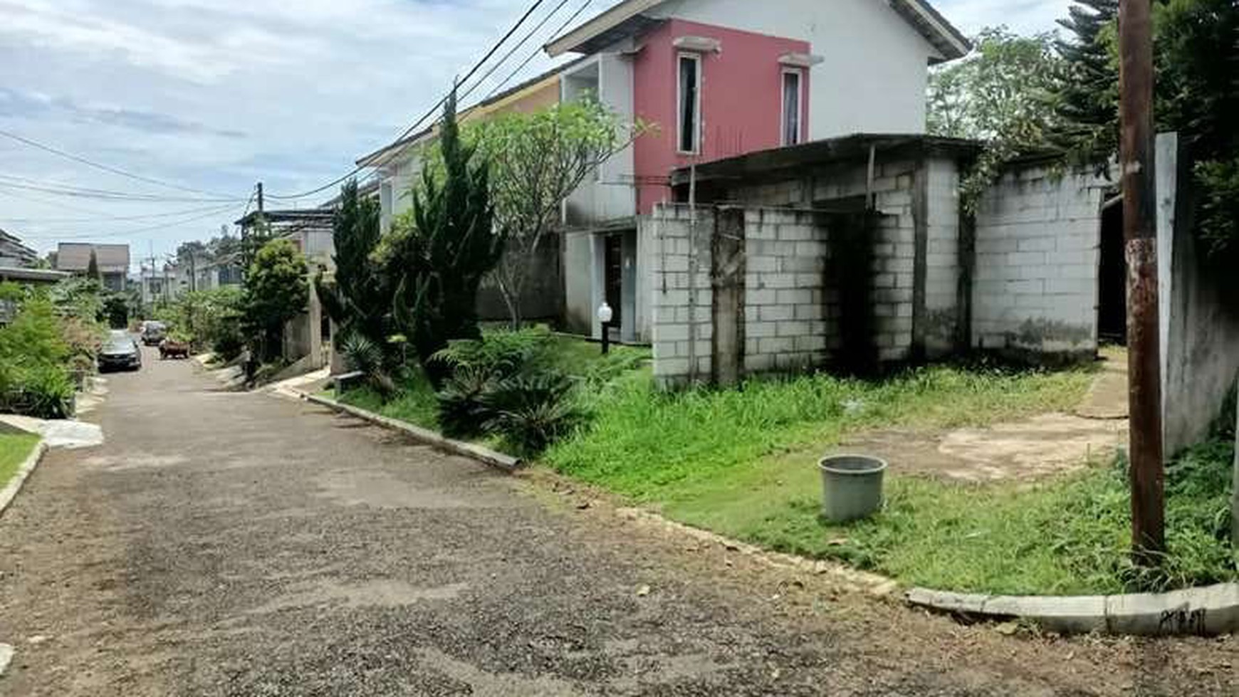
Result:
<instances>
[{"instance_id":1,"label":"pale block wall section beside the dark doorway, right of flat-roofed part","mask_svg":"<svg viewBox=\"0 0 1239 697\"><path fill-rule=\"evenodd\" d=\"M1097 350L1104 183L1046 167L1005 175L976 210L973 345L1083 355Z\"/></svg>"}]
</instances>

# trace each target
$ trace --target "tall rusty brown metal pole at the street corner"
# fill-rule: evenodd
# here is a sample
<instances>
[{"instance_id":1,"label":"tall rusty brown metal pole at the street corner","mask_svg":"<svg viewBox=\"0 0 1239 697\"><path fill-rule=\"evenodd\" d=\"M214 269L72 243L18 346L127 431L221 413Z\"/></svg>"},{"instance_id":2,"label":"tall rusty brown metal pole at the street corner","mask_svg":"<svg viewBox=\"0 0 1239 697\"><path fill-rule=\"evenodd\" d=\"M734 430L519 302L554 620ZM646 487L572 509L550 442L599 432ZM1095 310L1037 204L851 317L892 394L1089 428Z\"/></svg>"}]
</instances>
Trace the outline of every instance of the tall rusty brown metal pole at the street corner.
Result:
<instances>
[{"instance_id":1,"label":"tall rusty brown metal pole at the street corner","mask_svg":"<svg viewBox=\"0 0 1239 697\"><path fill-rule=\"evenodd\" d=\"M1119 166L1127 259L1131 543L1136 561L1142 565L1156 565L1160 552L1166 550L1150 5L1151 0L1121 0L1119 5L1123 126Z\"/></svg>"}]
</instances>

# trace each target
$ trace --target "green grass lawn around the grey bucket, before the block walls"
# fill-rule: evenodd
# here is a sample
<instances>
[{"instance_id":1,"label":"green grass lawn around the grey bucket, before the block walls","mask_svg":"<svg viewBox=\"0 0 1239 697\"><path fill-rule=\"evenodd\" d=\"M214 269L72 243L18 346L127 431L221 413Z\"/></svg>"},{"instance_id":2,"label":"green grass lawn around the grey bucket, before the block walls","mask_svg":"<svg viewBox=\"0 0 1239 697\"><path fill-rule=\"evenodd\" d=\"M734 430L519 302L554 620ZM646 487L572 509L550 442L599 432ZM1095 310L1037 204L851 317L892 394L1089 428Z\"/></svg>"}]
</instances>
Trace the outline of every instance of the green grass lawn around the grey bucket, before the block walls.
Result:
<instances>
[{"instance_id":1,"label":"green grass lawn around the grey bucket, before the block walls","mask_svg":"<svg viewBox=\"0 0 1239 697\"><path fill-rule=\"evenodd\" d=\"M1126 561L1126 485L1109 463L1036 487L888 475L881 514L844 526L820 519L815 458L844 435L883 426L981 426L1064 410L1092 378L1087 369L930 366L880 381L815 375L679 395L658 395L648 380L627 379L593 423L554 446L544 462L672 519L772 550L843 560L909 584L1041 594L1235 578L1218 537L1229 493L1225 446L1203 448L1171 468L1173 555L1157 574Z\"/></svg>"}]
</instances>

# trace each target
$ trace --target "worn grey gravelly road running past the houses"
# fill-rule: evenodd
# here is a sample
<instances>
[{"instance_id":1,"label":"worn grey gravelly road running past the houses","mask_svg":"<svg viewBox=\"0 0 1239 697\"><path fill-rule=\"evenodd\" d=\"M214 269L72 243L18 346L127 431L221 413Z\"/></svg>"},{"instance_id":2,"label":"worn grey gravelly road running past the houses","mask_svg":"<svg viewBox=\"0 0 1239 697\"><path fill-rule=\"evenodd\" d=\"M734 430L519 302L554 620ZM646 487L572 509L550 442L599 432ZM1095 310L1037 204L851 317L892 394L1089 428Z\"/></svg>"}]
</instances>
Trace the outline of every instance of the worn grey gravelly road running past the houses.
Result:
<instances>
[{"instance_id":1,"label":"worn grey gravelly road running past the houses","mask_svg":"<svg viewBox=\"0 0 1239 697\"><path fill-rule=\"evenodd\" d=\"M190 363L110 387L0 517L0 695L1235 693L1234 639L1005 636Z\"/></svg>"}]
</instances>

